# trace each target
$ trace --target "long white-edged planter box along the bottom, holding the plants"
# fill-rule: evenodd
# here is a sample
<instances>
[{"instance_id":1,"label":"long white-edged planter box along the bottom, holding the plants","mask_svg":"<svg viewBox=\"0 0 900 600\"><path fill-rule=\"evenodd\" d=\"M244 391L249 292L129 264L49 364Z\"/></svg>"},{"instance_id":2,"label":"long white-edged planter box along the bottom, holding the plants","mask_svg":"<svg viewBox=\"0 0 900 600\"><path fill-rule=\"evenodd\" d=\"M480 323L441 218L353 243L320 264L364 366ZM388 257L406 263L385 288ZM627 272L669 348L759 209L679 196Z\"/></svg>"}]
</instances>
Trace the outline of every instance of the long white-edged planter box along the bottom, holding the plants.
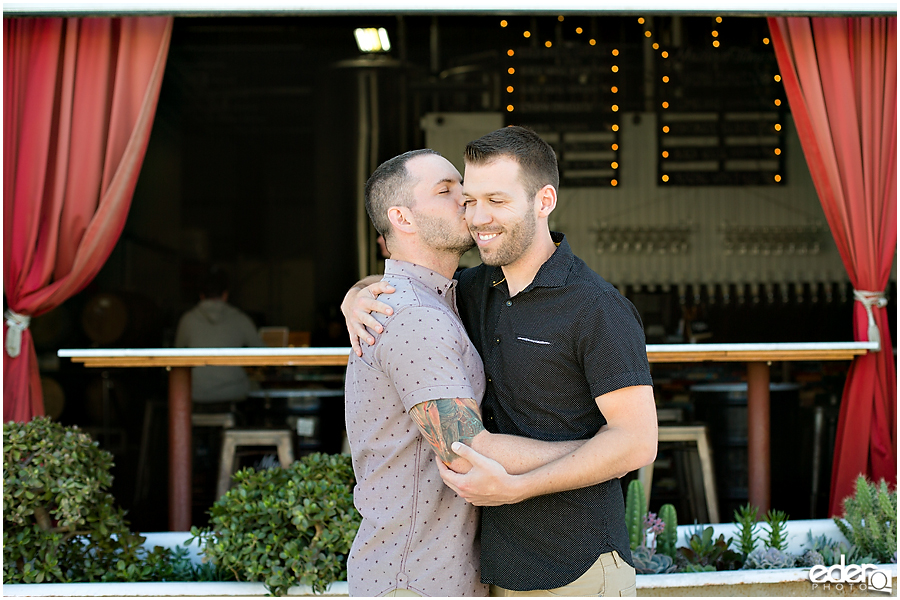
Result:
<instances>
[{"instance_id":1,"label":"long white-edged planter box along the bottom, holding the plants","mask_svg":"<svg viewBox=\"0 0 900 600\"><path fill-rule=\"evenodd\" d=\"M695 525L678 528L679 544L684 544L686 536L694 531ZM700 527L706 527L701 525ZM736 537L736 527L732 523L712 525L716 537ZM835 541L846 541L831 519L788 521L788 551L799 553L806 542L806 534L827 535ZM186 532L164 532L144 534L145 545L174 548L189 537ZM191 558L200 562L199 548L190 547ZM879 565L891 576L893 595L897 594L897 565ZM837 588L820 585L814 588L809 581L809 569L761 569L750 571L722 571L717 573L672 573L667 575L638 575L638 596L844 596L872 595L886 596L877 591L861 591L857 586L843 584ZM4 596L44 596L44 597L86 597L86 596L265 596L262 583L244 582L203 582L203 583L41 583L14 584L3 586ZM312 596L306 586L293 587L289 596ZM338 581L326 590L326 596L347 596L347 582Z\"/></svg>"}]
</instances>

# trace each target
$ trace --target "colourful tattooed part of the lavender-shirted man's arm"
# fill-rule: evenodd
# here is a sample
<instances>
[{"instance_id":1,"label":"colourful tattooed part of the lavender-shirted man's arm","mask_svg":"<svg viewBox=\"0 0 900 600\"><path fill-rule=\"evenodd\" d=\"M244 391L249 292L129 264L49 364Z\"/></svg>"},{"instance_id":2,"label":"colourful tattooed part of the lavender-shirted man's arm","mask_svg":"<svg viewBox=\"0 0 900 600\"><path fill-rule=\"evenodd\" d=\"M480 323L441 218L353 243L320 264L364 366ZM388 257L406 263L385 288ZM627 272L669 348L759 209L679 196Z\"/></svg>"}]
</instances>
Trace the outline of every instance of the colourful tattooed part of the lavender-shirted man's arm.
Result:
<instances>
[{"instance_id":1,"label":"colourful tattooed part of the lavender-shirted man's arm","mask_svg":"<svg viewBox=\"0 0 900 600\"><path fill-rule=\"evenodd\" d=\"M453 442L471 444L484 431L478 405L471 398L441 398L417 404L409 416L418 425L425 440L447 465L457 458L450 450Z\"/></svg>"}]
</instances>

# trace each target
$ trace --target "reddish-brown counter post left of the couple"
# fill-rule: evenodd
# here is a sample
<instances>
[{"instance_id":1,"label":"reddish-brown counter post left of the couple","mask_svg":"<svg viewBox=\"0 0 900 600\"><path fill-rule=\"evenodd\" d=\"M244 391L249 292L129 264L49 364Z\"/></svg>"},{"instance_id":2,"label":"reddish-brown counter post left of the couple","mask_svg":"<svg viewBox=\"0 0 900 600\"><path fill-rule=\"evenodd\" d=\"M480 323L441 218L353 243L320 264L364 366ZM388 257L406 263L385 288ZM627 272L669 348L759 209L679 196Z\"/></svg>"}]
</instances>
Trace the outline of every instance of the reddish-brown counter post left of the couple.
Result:
<instances>
[{"instance_id":1,"label":"reddish-brown counter post left of the couple","mask_svg":"<svg viewBox=\"0 0 900 600\"><path fill-rule=\"evenodd\" d=\"M169 531L191 529L191 368L169 370Z\"/></svg>"}]
</instances>

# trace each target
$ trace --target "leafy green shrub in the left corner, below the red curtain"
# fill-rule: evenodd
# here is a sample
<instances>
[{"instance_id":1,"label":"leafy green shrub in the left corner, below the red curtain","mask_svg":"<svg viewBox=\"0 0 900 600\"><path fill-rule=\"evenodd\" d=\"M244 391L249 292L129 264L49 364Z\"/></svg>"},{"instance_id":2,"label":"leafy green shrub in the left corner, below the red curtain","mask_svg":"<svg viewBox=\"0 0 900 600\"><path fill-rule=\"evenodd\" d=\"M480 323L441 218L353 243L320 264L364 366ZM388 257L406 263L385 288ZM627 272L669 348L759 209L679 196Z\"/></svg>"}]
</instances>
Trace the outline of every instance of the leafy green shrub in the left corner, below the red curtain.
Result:
<instances>
[{"instance_id":1,"label":"leafy green shrub in the left corner, below the red curtain","mask_svg":"<svg viewBox=\"0 0 900 600\"><path fill-rule=\"evenodd\" d=\"M46 417L3 425L3 582L186 581L187 552L148 551L106 491L113 457Z\"/></svg>"}]
</instances>

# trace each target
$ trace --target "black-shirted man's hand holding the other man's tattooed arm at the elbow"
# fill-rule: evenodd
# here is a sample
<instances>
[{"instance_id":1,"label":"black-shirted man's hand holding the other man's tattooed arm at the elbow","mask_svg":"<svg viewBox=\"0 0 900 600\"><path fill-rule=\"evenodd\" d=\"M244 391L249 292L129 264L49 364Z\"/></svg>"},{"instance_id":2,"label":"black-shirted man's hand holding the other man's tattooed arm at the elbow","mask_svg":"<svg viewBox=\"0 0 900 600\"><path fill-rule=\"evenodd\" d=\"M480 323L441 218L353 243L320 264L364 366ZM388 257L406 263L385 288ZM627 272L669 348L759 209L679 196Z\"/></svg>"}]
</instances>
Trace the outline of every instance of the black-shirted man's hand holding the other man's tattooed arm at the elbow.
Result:
<instances>
[{"instance_id":1,"label":"black-shirted man's hand holding the other man's tattooed arm at the elbow","mask_svg":"<svg viewBox=\"0 0 900 600\"><path fill-rule=\"evenodd\" d=\"M472 464L468 473L455 473L441 461L435 462L441 479L461 498L475 506L514 504L525 499L518 491L517 477L507 473L503 465L460 442L454 443L452 450Z\"/></svg>"}]
</instances>

